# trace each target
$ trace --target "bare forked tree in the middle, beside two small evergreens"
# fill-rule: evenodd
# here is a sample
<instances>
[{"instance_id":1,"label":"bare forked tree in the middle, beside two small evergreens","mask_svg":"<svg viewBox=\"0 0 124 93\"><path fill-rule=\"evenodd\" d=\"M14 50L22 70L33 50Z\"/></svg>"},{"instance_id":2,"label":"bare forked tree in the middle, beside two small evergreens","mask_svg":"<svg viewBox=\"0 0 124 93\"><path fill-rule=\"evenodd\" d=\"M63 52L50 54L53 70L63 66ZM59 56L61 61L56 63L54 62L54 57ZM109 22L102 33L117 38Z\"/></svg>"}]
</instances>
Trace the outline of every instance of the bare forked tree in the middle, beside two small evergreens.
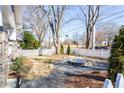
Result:
<instances>
[{"instance_id":1,"label":"bare forked tree in the middle, beside two small evergreens","mask_svg":"<svg viewBox=\"0 0 124 93\"><path fill-rule=\"evenodd\" d=\"M52 31L53 43L56 54L60 54L60 28L66 6L40 6L47 16L49 26Z\"/></svg>"}]
</instances>

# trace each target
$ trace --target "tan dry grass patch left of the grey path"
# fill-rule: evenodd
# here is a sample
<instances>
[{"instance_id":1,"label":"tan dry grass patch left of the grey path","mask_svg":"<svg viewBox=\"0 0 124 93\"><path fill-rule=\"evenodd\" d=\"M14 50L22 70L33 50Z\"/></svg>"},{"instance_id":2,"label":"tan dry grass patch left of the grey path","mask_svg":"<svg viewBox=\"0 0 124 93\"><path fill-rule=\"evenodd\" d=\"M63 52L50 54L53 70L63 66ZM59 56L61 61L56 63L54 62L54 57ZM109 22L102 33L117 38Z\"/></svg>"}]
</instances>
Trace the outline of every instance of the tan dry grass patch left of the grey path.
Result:
<instances>
[{"instance_id":1,"label":"tan dry grass patch left of the grey path","mask_svg":"<svg viewBox=\"0 0 124 93\"><path fill-rule=\"evenodd\" d=\"M47 76L53 69L52 69L52 62L61 60L63 58L72 58L75 56L68 56L68 55L54 55L54 56L38 56L35 58L27 58L28 60L25 61L26 64L29 65L32 63L32 67L24 79L31 80L37 77L45 77ZM30 61L29 61L30 60Z\"/></svg>"}]
</instances>

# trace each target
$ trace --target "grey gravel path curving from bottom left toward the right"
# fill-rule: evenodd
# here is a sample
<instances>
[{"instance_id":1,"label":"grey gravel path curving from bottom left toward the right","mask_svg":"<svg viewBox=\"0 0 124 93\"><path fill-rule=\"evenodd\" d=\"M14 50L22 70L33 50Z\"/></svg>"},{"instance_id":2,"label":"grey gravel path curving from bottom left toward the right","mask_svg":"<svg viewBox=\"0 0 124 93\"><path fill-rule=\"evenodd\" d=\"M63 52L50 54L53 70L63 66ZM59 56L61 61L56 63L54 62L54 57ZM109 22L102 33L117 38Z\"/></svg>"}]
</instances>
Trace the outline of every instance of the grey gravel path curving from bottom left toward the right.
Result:
<instances>
[{"instance_id":1,"label":"grey gravel path curving from bottom left toward the right","mask_svg":"<svg viewBox=\"0 0 124 93\"><path fill-rule=\"evenodd\" d=\"M101 60L96 60L96 66L92 68L76 67L64 63L63 61L53 63L54 70L47 77L39 77L34 80L22 80L21 88L64 88L64 79L67 74L78 74L87 70L101 70L105 71L107 68L106 63L100 63Z\"/></svg>"}]
</instances>

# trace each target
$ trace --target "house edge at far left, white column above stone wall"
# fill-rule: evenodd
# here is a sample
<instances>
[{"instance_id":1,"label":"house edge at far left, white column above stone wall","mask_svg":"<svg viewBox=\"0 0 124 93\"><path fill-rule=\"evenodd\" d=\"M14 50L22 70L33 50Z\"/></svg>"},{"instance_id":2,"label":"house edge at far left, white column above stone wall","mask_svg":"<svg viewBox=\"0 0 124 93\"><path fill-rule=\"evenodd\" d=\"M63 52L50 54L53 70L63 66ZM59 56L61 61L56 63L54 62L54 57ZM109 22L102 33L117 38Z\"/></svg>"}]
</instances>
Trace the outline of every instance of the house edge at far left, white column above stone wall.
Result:
<instances>
[{"instance_id":1,"label":"house edge at far left, white column above stone wall","mask_svg":"<svg viewBox=\"0 0 124 93\"><path fill-rule=\"evenodd\" d=\"M0 88L6 85L11 58L18 50L16 29L21 29L21 6L13 7L0 6Z\"/></svg>"}]
</instances>

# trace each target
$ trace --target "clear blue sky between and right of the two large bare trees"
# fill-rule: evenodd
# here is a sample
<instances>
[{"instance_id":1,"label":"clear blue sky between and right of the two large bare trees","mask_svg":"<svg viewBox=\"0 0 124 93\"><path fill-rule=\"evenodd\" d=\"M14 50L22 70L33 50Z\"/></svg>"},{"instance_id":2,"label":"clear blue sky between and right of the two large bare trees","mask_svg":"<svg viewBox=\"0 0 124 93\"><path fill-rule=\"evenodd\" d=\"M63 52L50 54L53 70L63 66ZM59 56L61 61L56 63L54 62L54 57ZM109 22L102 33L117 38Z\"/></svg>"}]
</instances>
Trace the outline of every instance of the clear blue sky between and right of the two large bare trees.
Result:
<instances>
[{"instance_id":1,"label":"clear blue sky between and right of the two large bare trees","mask_svg":"<svg viewBox=\"0 0 124 93\"><path fill-rule=\"evenodd\" d=\"M84 10L85 10L86 6L82 6L82 7L84 7ZM69 23L64 24L68 20L74 19L74 18L75 20L72 20ZM65 11L63 24L61 27L61 35L60 35L62 41L66 39L66 35L68 35L69 39L72 39L73 35L75 34L82 35L86 32L85 24L82 21L83 18L84 18L83 14L81 13L79 6L70 6ZM118 6L118 5L100 6L99 19L100 21L97 22L96 26L100 24L105 24L108 22L116 24L117 26L123 25L124 24L124 6ZM49 31L45 39L47 40L48 37L49 37Z\"/></svg>"}]
</instances>

